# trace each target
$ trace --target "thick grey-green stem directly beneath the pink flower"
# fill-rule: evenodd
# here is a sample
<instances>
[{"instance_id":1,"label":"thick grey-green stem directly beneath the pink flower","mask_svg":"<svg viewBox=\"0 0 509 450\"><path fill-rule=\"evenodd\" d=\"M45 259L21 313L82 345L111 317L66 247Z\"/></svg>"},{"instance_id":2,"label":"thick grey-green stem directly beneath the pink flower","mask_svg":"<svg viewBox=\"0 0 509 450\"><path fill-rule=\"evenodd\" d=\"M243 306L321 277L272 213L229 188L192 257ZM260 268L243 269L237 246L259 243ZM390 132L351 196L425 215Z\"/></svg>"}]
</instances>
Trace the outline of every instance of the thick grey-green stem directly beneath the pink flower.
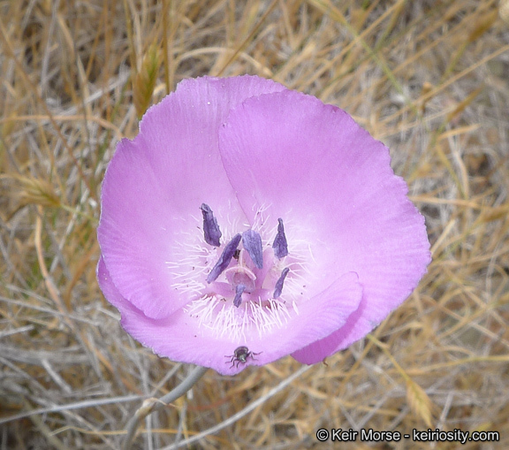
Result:
<instances>
[{"instance_id":1,"label":"thick grey-green stem directly beneath the pink flower","mask_svg":"<svg viewBox=\"0 0 509 450\"><path fill-rule=\"evenodd\" d=\"M160 399L147 399L143 401L140 408L134 413L127 425L127 436L125 437L124 450L130 450L133 445L134 438L136 437L136 431L140 426L140 423L155 411L159 411L164 407L168 406L171 401L178 399L184 395L194 384L209 370L207 367L196 366L194 370L187 376L187 378L180 383L177 387L171 390L166 395L163 395Z\"/></svg>"}]
</instances>

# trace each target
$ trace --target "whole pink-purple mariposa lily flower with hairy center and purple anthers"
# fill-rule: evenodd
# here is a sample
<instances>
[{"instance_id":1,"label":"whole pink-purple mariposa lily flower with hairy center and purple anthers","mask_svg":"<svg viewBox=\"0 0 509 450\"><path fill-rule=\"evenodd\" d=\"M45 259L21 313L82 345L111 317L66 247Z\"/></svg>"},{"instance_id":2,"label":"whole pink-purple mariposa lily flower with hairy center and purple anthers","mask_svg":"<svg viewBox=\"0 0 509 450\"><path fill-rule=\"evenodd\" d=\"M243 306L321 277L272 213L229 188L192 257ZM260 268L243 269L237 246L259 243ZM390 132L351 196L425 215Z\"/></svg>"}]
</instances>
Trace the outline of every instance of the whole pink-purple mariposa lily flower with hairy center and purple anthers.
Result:
<instances>
[{"instance_id":1,"label":"whole pink-purple mariposa lily flower with hairy center and purple anthers","mask_svg":"<svg viewBox=\"0 0 509 450\"><path fill-rule=\"evenodd\" d=\"M184 80L118 144L97 276L157 355L235 374L363 338L430 260L389 149L255 76Z\"/></svg>"}]
</instances>

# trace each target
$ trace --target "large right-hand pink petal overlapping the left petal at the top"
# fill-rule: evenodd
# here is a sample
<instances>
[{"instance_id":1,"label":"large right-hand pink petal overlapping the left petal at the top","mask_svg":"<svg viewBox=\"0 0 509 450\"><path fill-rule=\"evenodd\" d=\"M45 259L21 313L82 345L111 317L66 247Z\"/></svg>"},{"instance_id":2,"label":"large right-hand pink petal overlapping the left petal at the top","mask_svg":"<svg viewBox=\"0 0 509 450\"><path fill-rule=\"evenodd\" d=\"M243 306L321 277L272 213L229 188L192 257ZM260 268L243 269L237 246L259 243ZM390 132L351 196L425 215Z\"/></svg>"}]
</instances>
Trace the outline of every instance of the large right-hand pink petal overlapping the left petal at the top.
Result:
<instances>
[{"instance_id":1,"label":"large right-hand pink petal overlapping the left petal at the top","mask_svg":"<svg viewBox=\"0 0 509 450\"><path fill-rule=\"evenodd\" d=\"M307 230L300 238L322 277L313 292L359 274L364 308L344 330L296 352L299 361L321 361L361 339L417 286L430 261L424 218L394 175L389 149L345 111L294 91L260 95L231 112L219 149L250 221L252 205L266 205L271 220L284 218L289 246L292 224Z\"/></svg>"}]
</instances>

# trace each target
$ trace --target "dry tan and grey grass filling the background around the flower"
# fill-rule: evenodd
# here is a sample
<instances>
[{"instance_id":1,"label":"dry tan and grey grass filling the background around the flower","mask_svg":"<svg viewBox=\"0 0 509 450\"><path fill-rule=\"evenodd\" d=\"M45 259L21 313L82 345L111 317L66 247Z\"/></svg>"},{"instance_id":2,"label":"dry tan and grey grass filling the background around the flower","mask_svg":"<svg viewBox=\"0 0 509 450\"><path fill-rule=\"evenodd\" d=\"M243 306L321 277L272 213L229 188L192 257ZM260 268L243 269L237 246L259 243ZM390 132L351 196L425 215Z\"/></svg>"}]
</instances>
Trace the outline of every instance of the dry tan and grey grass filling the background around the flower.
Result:
<instances>
[{"instance_id":1,"label":"dry tan and grey grass filling the background around the flower","mask_svg":"<svg viewBox=\"0 0 509 450\"><path fill-rule=\"evenodd\" d=\"M130 339L97 287L100 185L118 138L179 80L246 72L337 104L391 147L433 263L328 366L267 398L298 362L209 370L137 446L205 432L191 447L338 448L322 427L490 430L498 444L464 448L509 446L507 3L1 1L0 448L118 448L141 400L186 376ZM433 447L342 447L368 446Z\"/></svg>"}]
</instances>

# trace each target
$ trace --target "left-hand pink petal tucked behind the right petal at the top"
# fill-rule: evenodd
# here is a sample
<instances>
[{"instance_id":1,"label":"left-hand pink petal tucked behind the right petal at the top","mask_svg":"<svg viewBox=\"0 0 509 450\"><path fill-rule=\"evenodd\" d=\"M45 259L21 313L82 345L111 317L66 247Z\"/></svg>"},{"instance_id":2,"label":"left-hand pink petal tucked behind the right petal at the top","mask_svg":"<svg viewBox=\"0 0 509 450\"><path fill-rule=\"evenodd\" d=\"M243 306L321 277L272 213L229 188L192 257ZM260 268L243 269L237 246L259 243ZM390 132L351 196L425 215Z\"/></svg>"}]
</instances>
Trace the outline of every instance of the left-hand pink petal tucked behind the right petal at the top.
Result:
<instances>
[{"instance_id":1,"label":"left-hand pink petal tucked behind the right petal at the top","mask_svg":"<svg viewBox=\"0 0 509 450\"><path fill-rule=\"evenodd\" d=\"M189 301L175 289L174 243L201 226L207 203L219 223L242 217L218 153L217 128L235 105L285 89L259 77L184 80L150 108L133 141L123 140L103 181L98 240L120 294L148 317ZM195 223L184 217L195 217Z\"/></svg>"}]
</instances>

